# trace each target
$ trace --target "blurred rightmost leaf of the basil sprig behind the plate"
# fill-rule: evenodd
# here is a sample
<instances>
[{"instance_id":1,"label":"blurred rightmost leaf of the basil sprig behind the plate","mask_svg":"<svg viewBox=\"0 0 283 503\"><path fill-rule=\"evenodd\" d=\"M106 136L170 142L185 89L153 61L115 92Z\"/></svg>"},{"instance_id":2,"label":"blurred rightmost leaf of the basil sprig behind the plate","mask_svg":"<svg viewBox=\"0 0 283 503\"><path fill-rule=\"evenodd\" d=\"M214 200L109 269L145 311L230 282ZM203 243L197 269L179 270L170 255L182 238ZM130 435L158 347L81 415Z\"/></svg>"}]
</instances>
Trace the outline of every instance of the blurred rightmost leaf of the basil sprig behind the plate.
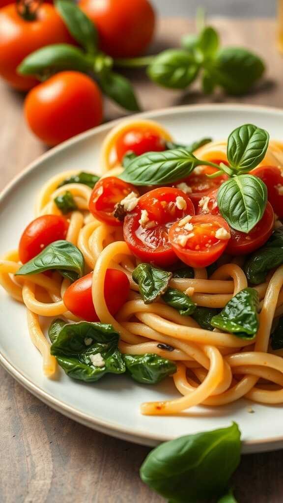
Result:
<instances>
[{"instance_id":1,"label":"blurred rightmost leaf of the basil sprig behind the plate","mask_svg":"<svg viewBox=\"0 0 283 503\"><path fill-rule=\"evenodd\" d=\"M262 59L242 47L224 47L209 67L215 82L227 93L247 93L265 70Z\"/></svg>"}]
</instances>

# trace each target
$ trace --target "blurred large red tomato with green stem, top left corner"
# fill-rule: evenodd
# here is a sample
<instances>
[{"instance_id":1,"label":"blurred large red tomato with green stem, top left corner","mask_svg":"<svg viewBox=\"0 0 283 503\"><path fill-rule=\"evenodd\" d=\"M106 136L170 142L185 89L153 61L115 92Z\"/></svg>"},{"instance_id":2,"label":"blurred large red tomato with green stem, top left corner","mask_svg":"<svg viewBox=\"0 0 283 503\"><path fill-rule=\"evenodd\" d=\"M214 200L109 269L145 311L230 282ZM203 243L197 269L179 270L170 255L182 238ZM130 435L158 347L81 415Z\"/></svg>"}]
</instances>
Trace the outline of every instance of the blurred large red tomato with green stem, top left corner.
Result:
<instances>
[{"instance_id":1,"label":"blurred large red tomato with green stem, top left corner","mask_svg":"<svg viewBox=\"0 0 283 503\"><path fill-rule=\"evenodd\" d=\"M42 4L27 21L17 11L17 5L0 10L0 76L11 86L27 91L38 80L17 73L17 67L30 53L49 44L70 43L72 38L52 5Z\"/></svg>"}]
</instances>

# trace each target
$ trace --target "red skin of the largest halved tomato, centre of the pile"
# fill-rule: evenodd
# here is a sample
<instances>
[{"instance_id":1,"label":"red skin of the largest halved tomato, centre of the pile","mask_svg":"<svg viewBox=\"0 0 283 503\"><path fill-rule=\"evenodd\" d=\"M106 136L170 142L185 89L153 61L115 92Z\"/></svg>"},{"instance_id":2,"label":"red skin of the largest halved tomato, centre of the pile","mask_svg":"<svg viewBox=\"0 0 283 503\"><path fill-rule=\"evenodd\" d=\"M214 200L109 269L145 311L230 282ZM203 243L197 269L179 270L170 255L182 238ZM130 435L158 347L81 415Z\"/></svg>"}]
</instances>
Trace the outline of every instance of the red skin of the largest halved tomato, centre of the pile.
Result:
<instances>
[{"instance_id":1,"label":"red skin of the largest halved tomato, centre of the pile","mask_svg":"<svg viewBox=\"0 0 283 503\"><path fill-rule=\"evenodd\" d=\"M186 201L187 208L182 214L178 214L177 219L183 218L183 216L185 215L194 215L193 204L189 197L184 194L184 192L180 191L179 189L170 187L154 189L140 197L136 208L131 213L126 215L124 219L123 233L124 239L129 249L131 250L133 255L138 257L138 259L142 260L143 262L153 263L159 267L167 267L177 262L178 259L168 240L168 227L166 227L166 221L157 226L158 230L156 230L156 228L153 228L148 229L148 231L145 231L138 223L140 214L143 209L146 209L148 211L150 220L154 218L154 216L159 216L159 209L155 208L153 200L155 199L156 201L158 201L159 198L161 198L161 195L163 195L163 197L167 198L168 200L170 199L170 195L172 195L172 200L176 199L177 196L181 196ZM176 221L176 219L173 218L173 222L174 221ZM170 224L171 222L169 221L168 226L170 226ZM153 239L156 235L156 232L160 232L160 239L163 239L164 243L159 246L159 249L148 246L142 239L137 236L137 233L142 234L143 232L146 232L148 236L152 235Z\"/></svg>"}]
</instances>

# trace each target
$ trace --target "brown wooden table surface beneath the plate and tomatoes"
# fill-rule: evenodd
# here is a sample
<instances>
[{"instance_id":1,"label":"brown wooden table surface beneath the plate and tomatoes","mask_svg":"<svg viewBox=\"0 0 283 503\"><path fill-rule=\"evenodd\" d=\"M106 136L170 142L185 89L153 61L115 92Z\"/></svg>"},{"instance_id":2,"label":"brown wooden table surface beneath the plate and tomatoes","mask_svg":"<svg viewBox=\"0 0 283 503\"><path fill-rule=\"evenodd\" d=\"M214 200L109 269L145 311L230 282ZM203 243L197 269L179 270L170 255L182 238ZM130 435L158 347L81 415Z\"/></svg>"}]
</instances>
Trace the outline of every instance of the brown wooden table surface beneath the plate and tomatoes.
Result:
<instances>
[{"instance_id":1,"label":"brown wooden table surface beneath the plate and tomatoes","mask_svg":"<svg viewBox=\"0 0 283 503\"><path fill-rule=\"evenodd\" d=\"M134 82L145 110L207 102L283 106L283 59L275 47L272 20L215 19L223 42L243 45L262 55L268 66L256 93L239 99L204 97L197 87L186 93L156 88L137 71ZM153 52L177 46L193 23L160 23ZM28 131L24 97L0 83L1 189L45 148ZM107 120L121 116L108 103ZM283 124L282 124L283 135ZM0 368L0 501L2 503L156 503L163 501L139 479L146 447L96 433L44 405ZM255 418L256 421L256 418ZM235 475L239 503L280 503L283 499L282 452L245 456Z\"/></svg>"}]
</instances>

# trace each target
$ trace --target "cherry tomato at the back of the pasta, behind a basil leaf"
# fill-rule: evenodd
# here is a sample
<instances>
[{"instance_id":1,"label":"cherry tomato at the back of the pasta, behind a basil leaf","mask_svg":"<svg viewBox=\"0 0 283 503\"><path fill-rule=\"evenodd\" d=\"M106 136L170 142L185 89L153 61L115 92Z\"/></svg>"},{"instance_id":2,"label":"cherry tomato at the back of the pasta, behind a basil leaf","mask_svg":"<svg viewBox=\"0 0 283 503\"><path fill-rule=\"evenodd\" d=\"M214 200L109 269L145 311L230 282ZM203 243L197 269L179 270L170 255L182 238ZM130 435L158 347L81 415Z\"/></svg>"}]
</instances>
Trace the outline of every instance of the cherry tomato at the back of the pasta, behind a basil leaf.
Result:
<instances>
[{"instance_id":1,"label":"cherry tomato at the back of the pasta, behind a basil leaf","mask_svg":"<svg viewBox=\"0 0 283 503\"><path fill-rule=\"evenodd\" d=\"M159 152L165 148L164 139L148 127L136 127L131 131L126 131L116 142L116 154L120 162L129 151L142 155L145 152Z\"/></svg>"}]
</instances>

